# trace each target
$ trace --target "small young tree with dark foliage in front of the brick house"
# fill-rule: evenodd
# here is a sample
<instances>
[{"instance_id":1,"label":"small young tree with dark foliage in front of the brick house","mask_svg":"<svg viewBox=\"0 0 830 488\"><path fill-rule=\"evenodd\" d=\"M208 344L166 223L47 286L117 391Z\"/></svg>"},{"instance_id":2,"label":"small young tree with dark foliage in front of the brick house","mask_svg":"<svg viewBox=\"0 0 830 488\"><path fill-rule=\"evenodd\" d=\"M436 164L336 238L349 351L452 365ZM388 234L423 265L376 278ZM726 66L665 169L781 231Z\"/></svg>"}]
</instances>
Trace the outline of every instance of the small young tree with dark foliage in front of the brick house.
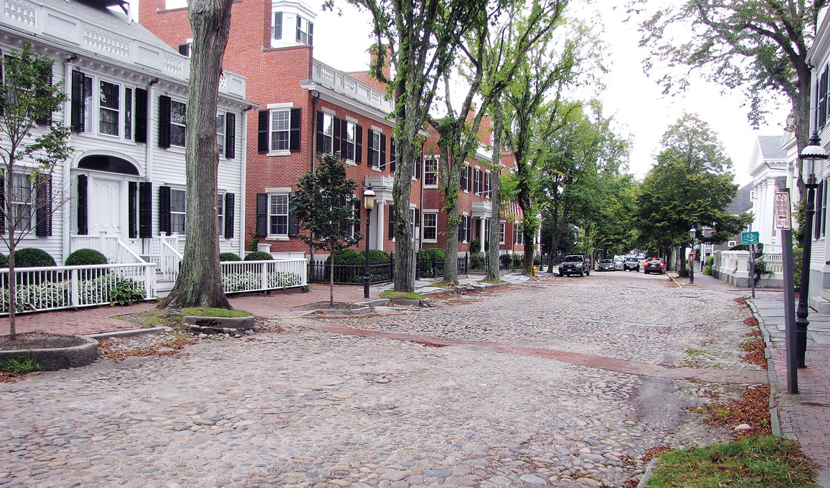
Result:
<instances>
[{"instance_id":1,"label":"small young tree with dark foliage in front of the brick house","mask_svg":"<svg viewBox=\"0 0 830 488\"><path fill-rule=\"evenodd\" d=\"M322 154L313 173L305 173L297 183L291 203L300 226L303 242L328 251L329 303L334 305L334 253L354 246L360 231L360 200L354 196L357 183L346 177L346 166L338 155Z\"/></svg>"}]
</instances>

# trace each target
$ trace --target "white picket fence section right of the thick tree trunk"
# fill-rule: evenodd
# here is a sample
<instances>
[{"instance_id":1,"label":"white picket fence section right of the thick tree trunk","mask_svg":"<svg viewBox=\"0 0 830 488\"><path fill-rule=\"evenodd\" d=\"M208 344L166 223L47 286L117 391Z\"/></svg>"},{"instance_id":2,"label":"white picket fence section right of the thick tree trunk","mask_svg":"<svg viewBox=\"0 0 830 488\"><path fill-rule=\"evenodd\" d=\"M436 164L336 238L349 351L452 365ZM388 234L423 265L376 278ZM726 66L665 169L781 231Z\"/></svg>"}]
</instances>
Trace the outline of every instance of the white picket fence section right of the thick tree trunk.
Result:
<instances>
[{"instance_id":1,"label":"white picket fence section right of the thick tree trunk","mask_svg":"<svg viewBox=\"0 0 830 488\"><path fill-rule=\"evenodd\" d=\"M225 293L278 290L308 285L308 261L223 261L222 288Z\"/></svg>"}]
</instances>

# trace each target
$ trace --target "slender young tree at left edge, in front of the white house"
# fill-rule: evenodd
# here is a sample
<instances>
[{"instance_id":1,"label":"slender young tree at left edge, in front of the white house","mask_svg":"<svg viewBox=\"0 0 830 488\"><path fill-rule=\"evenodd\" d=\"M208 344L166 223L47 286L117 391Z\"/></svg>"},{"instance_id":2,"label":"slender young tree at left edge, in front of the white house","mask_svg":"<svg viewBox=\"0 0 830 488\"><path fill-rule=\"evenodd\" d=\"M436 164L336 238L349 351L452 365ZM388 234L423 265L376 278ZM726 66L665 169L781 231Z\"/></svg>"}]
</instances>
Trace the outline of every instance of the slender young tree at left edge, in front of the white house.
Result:
<instances>
[{"instance_id":1,"label":"slender young tree at left edge, in front of the white house","mask_svg":"<svg viewBox=\"0 0 830 488\"><path fill-rule=\"evenodd\" d=\"M8 281L17 283L14 251L32 231L51 236L51 214L66 203L52 174L72 154L70 128L52 112L66 102L63 82L52 84L53 61L31 44L7 51L0 88L0 238L8 248ZM49 227L49 228L47 228ZM2 232L2 231L5 232ZM16 285L8 286L10 339L16 339Z\"/></svg>"}]
</instances>

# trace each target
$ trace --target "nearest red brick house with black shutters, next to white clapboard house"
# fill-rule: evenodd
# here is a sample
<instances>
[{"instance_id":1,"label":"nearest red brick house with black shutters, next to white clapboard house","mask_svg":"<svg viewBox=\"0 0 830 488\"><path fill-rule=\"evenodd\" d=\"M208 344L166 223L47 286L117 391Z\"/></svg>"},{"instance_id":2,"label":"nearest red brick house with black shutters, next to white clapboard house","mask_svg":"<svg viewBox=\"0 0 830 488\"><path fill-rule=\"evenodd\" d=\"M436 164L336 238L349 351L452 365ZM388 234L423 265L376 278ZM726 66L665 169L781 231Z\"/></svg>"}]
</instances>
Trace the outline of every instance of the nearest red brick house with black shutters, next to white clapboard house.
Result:
<instances>
[{"instance_id":1,"label":"nearest red brick house with black shutters, next to white clapboard house","mask_svg":"<svg viewBox=\"0 0 830 488\"><path fill-rule=\"evenodd\" d=\"M144 0L139 22L187 53L187 9L170 5ZM245 0L232 8L224 67L247 77L247 100L261 108L249 115L246 131L247 242L283 256L305 255L309 247L296 237L291 193L315 167L317 154L339 152L349 178L359 186L371 184L377 194L370 247L393 251L388 210L395 171L392 100L365 73L338 71L314 59L315 12L304 2ZM413 225L420 217L420 174L413 174ZM362 189L357 192L362 201ZM365 227L361 230L365 234Z\"/></svg>"}]
</instances>

